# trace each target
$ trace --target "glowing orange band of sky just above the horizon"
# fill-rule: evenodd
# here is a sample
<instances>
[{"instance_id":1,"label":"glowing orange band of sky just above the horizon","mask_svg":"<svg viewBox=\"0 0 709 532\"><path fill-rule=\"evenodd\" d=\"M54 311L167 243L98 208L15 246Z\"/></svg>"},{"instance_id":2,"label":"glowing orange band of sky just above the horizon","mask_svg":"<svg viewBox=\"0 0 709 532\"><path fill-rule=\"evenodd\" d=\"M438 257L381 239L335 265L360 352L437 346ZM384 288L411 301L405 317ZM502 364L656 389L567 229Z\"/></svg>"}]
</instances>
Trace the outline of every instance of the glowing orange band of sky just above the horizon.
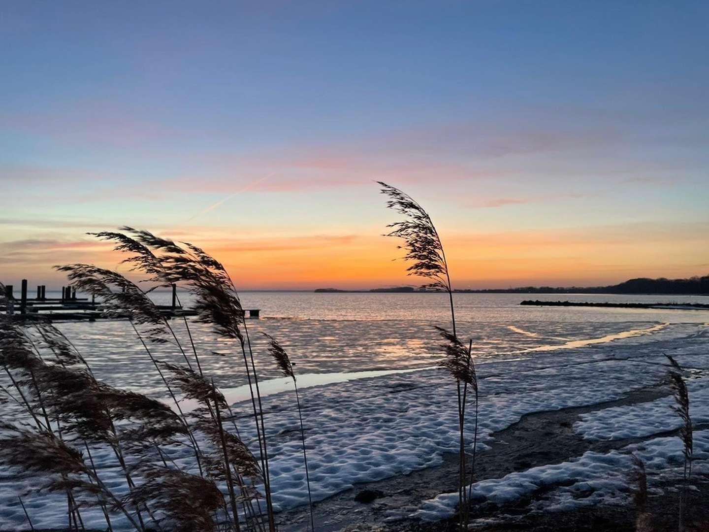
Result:
<instances>
[{"instance_id":1,"label":"glowing orange band of sky just above the horizon","mask_svg":"<svg viewBox=\"0 0 709 532\"><path fill-rule=\"evenodd\" d=\"M642 229L642 230L641 230ZM706 275L705 228L681 233L657 228L584 228L574 231L517 231L444 235L456 288L529 285L597 286L632 277ZM231 238L206 228L180 233L228 268L240 289L369 289L412 285L425 279L406 275L408 264L394 238L363 235L249 235ZM54 265L88 262L130 275L123 256L91 237L66 242L28 240L7 255L2 282L60 286ZM673 261L669 262L668 257ZM648 265L658 265L649 267Z\"/></svg>"}]
</instances>

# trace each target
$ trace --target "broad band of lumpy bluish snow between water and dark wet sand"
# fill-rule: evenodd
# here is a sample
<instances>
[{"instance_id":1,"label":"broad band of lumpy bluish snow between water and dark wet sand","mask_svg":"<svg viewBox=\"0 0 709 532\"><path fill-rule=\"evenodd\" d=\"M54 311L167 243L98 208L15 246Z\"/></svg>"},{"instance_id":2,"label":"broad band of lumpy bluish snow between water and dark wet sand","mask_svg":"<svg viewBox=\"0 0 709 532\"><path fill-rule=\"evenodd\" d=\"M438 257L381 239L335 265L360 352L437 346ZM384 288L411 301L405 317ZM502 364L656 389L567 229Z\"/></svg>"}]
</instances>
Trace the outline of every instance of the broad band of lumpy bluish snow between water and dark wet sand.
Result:
<instances>
[{"instance_id":1,"label":"broad band of lumpy bluish snow between water and dark wet sand","mask_svg":"<svg viewBox=\"0 0 709 532\"><path fill-rule=\"evenodd\" d=\"M695 326L676 326L654 341L673 343ZM694 338L684 352L703 348ZM479 365L481 387L479 441L535 411L563 409L618 399L633 389L659 382L668 369L662 355L648 355L638 336L604 348L577 350L573 355L535 355L522 360ZM548 352L545 352L548 353ZM657 353L657 352L656 352ZM450 386L446 389L446 386ZM303 392L313 496L322 499L354 482L371 482L442 462L442 453L457 451L457 409L453 384L440 370L362 379L337 387ZM270 427L294 431L296 418L286 394L264 401ZM276 419L275 412L278 412ZM268 418L267 418L268 419ZM472 426L468 427L471 430ZM469 432L467 437L471 438ZM273 441L273 438L272 438ZM304 481L289 475L297 470L297 440L271 443L274 501L280 509L303 504Z\"/></svg>"}]
</instances>

